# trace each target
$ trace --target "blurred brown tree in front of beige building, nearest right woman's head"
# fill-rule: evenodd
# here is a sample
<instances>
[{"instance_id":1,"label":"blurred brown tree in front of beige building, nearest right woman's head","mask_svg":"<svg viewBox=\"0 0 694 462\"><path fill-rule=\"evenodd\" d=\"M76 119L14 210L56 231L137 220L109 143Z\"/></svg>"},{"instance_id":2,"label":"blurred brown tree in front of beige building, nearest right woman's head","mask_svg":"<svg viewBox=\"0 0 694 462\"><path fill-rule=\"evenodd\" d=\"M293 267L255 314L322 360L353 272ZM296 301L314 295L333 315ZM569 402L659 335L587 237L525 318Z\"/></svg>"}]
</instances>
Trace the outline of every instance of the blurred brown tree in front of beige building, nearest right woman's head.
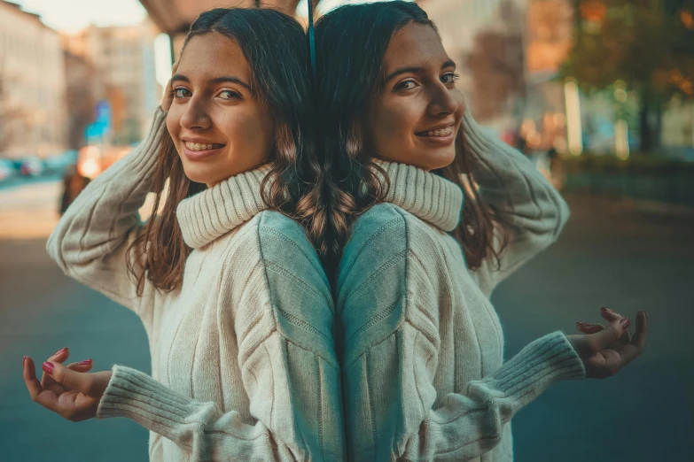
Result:
<instances>
[{"instance_id":1,"label":"blurred brown tree in front of beige building, nearest right woman's head","mask_svg":"<svg viewBox=\"0 0 694 462\"><path fill-rule=\"evenodd\" d=\"M511 0L499 7L499 23L475 36L465 66L472 77L472 105L480 120L507 111L511 97L524 100L526 73L522 12ZM522 104L521 104L522 105Z\"/></svg>"}]
</instances>

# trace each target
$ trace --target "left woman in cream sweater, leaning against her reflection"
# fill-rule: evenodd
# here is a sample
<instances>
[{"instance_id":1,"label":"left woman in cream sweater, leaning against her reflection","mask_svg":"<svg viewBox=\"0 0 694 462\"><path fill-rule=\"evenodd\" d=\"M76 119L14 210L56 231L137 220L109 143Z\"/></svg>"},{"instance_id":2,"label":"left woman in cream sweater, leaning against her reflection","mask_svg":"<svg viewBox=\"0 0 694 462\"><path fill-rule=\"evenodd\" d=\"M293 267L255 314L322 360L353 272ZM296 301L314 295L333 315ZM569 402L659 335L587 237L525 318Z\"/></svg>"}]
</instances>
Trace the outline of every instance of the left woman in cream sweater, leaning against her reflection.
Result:
<instances>
[{"instance_id":1,"label":"left woman in cream sweater, leaning against her reflection","mask_svg":"<svg viewBox=\"0 0 694 462\"><path fill-rule=\"evenodd\" d=\"M140 317L152 376L86 373L61 350L43 383L25 359L36 402L69 420L135 420L151 460L342 458L331 290L288 218L317 207L303 186L317 166L308 89L294 19L216 9L195 21L148 138L48 241L67 274ZM149 191L164 206L145 226Z\"/></svg>"}]
</instances>

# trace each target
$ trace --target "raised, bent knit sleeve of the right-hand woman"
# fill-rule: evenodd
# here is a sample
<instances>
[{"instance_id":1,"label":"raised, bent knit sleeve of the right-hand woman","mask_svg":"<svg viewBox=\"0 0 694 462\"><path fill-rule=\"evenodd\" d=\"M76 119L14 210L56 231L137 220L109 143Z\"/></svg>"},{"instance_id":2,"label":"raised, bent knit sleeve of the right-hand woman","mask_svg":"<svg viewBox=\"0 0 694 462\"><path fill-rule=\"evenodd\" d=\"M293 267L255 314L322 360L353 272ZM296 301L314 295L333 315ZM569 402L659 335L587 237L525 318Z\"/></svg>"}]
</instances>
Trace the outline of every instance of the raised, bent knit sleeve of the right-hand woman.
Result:
<instances>
[{"instance_id":1,"label":"raised, bent knit sleeve of the right-hand woman","mask_svg":"<svg viewBox=\"0 0 694 462\"><path fill-rule=\"evenodd\" d=\"M466 147L482 162L472 172L480 196L517 229L501 268L497 269L495 258L487 258L476 272L482 292L489 296L499 282L558 239L569 208L525 155L480 127L467 110L463 131ZM495 239L494 245L498 249L500 240Z\"/></svg>"}]
</instances>

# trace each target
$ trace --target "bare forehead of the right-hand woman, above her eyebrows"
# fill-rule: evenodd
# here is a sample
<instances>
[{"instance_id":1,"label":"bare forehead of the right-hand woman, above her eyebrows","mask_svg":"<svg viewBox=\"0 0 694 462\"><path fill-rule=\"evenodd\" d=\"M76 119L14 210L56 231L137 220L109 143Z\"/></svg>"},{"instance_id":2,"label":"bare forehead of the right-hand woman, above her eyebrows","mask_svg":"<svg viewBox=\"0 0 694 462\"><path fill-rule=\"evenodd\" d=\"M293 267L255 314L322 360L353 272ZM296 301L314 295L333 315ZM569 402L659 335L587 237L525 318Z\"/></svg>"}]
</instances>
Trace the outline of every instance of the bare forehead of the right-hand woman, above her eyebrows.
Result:
<instances>
[{"instance_id":1,"label":"bare forehead of the right-hand woman, above her eyebrows","mask_svg":"<svg viewBox=\"0 0 694 462\"><path fill-rule=\"evenodd\" d=\"M448 53L443 50L441 39L433 27L412 23L393 35L383 65L386 74L405 66L433 66L438 71L448 59Z\"/></svg>"}]
</instances>

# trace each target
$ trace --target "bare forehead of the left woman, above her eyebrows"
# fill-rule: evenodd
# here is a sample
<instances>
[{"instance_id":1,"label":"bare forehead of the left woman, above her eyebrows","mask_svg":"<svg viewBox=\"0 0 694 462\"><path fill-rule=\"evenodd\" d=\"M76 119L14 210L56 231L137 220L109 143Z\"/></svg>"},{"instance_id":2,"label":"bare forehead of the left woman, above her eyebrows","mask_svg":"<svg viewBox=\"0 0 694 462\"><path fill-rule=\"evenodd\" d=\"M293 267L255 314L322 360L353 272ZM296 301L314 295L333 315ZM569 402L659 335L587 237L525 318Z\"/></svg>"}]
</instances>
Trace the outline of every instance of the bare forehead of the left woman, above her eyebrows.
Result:
<instances>
[{"instance_id":1,"label":"bare forehead of the left woman, above her eyebrows","mask_svg":"<svg viewBox=\"0 0 694 462\"><path fill-rule=\"evenodd\" d=\"M191 38L183 50L178 73L196 76L235 76L250 81L251 69L238 43L225 35L212 32Z\"/></svg>"}]
</instances>

